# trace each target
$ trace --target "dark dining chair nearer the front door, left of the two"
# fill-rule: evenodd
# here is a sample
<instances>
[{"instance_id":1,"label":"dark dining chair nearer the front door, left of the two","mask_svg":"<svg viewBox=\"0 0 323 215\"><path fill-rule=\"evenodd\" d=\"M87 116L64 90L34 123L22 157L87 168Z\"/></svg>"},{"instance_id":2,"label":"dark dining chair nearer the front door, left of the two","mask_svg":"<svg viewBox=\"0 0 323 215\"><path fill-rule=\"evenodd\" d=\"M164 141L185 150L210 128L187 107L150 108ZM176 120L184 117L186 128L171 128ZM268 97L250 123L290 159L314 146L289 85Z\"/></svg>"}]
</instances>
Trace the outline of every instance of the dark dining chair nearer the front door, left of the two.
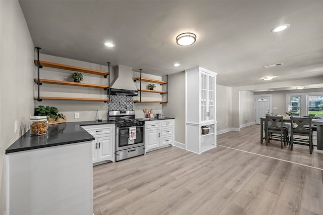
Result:
<instances>
[{"instance_id":1,"label":"dark dining chair nearer the front door, left of the two","mask_svg":"<svg viewBox=\"0 0 323 215\"><path fill-rule=\"evenodd\" d=\"M286 128L283 127L283 117L270 117L266 116L266 145L270 143L270 140L280 140L281 148L286 145ZM280 135L275 135L280 134Z\"/></svg>"}]
</instances>

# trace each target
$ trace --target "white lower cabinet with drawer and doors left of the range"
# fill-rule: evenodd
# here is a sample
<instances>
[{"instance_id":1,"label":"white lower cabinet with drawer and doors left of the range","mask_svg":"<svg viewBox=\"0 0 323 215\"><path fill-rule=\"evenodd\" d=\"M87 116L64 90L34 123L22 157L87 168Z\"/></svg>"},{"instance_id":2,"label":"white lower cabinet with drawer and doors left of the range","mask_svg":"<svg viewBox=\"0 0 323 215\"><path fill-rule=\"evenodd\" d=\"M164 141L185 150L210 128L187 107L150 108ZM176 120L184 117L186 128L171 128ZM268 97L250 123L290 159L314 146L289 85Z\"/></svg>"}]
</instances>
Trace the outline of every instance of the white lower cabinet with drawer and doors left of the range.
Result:
<instances>
[{"instance_id":1,"label":"white lower cabinet with drawer and doors left of the range","mask_svg":"<svg viewBox=\"0 0 323 215\"><path fill-rule=\"evenodd\" d=\"M102 124L82 126L95 140L92 141L93 164L104 160L116 161L116 126L115 124Z\"/></svg>"}]
</instances>

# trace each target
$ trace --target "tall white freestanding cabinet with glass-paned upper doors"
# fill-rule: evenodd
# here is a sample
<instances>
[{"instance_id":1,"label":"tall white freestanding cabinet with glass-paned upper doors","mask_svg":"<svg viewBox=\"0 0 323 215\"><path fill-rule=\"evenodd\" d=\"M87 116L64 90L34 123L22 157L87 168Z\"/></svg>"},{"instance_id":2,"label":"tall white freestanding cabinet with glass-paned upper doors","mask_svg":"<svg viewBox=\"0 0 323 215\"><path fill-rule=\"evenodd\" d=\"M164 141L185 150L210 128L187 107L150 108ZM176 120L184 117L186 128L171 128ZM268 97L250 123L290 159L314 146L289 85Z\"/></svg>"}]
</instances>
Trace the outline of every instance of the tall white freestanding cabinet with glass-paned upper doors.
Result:
<instances>
[{"instance_id":1,"label":"tall white freestanding cabinet with glass-paned upper doors","mask_svg":"<svg viewBox=\"0 0 323 215\"><path fill-rule=\"evenodd\" d=\"M186 150L202 153L217 146L216 80L217 73L201 67L185 70Z\"/></svg>"}]
</instances>

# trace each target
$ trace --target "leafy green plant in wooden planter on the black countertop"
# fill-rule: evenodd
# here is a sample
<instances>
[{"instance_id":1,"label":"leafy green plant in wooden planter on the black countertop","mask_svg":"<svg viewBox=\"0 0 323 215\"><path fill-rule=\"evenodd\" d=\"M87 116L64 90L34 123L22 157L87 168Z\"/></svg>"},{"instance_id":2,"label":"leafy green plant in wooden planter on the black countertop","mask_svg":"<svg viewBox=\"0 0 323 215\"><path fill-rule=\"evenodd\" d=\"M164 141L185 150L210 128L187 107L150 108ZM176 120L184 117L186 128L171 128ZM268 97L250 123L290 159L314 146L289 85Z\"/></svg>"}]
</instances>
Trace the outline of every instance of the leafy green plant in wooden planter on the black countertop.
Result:
<instances>
[{"instance_id":1,"label":"leafy green plant in wooden planter on the black countertop","mask_svg":"<svg viewBox=\"0 0 323 215\"><path fill-rule=\"evenodd\" d=\"M64 123L66 117L63 114L59 114L59 110L56 107L39 105L35 108L35 116L46 116L48 124Z\"/></svg>"}]
</instances>

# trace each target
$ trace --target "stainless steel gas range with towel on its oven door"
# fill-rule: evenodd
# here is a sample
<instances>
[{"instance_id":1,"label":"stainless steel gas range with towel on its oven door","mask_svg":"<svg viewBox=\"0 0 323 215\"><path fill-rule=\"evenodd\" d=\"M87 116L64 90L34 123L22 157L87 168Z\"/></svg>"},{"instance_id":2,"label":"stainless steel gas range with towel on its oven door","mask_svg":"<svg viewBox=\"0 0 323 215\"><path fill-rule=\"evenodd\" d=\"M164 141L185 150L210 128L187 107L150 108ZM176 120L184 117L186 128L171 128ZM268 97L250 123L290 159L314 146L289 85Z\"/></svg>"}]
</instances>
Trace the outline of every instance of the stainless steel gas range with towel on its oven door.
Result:
<instances>
[{"instance_id":1,"label":"stainless steel gas range with towel on its oven door","mask_svg":"<svg viewBox=\"0 0 323 215\"><path fill-rule=\"evenodd\" d=\"M143 120L135 119L135 111L109 111L109 121L116 123L116 161L144 154ZM131 134L135 137L131 138Z\"/></svg>"}]
</instances>

